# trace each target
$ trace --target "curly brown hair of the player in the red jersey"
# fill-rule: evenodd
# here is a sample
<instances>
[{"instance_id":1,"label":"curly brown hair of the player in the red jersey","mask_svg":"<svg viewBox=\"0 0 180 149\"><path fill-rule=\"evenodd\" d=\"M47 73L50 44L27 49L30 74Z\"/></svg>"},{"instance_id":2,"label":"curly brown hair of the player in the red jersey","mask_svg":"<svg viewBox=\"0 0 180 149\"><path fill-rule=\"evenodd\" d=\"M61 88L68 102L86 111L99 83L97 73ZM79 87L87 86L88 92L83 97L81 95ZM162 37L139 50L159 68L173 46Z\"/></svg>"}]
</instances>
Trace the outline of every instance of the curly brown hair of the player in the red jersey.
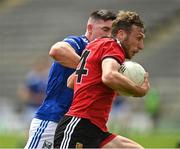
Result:
<instances>
[{"instance_id":1,"label":"curly brown hair of the player in the red jersey","mask_svg":"<svg viewBox=\"0 0 180 149\"><path fill-rule=\"evenodd\" d=\"M115 37L118 30L120 29L130 32L132 25L145 28L143 21L140 19L140 16L136 12L119 11L116 19L112 24L112 36Z\"/></svg>"}]
</instances>

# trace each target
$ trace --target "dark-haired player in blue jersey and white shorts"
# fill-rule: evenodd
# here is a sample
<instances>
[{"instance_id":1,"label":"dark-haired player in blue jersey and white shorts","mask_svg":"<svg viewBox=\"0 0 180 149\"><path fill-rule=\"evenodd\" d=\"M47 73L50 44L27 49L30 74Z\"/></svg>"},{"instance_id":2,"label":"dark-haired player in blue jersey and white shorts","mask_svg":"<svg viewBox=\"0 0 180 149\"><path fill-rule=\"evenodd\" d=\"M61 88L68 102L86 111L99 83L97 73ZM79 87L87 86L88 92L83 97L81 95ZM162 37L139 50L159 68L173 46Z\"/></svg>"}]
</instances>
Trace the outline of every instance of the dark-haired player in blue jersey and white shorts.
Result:
<instances>
[{"instance_id":1,"label":"dark-haired player in blue jersey and white shorts","mask_svg":"<svg viewBox=\"0 0 180 149\"><path fill-rule=\"evenodd\" d=\"M115 18L116 14L108 10L94 11L88 19L85 35L69 36L51 47L49 55L55 61L49 72L46 97L31 122L26 149L53 147L58 122L72 102L73 90L67 87L67 79L88 42L110 35Z\"/></svg>"}]
</instances>

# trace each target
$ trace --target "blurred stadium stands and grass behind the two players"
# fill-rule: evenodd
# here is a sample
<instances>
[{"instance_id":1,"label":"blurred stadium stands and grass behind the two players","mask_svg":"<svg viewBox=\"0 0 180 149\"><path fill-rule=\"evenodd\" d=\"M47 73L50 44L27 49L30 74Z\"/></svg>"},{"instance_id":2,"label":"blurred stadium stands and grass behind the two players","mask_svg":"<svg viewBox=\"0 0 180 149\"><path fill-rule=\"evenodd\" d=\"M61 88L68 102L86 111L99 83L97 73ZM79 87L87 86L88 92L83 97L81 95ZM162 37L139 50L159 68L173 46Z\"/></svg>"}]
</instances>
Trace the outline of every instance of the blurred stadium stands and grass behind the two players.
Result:
<instances>
[{"instance_id":1,"label":"blurred stadium stands and grass behind the two players","mask_svg":"<svg viewBox=\"0 0 180 149\"><path fill-rule=\"evenodd\" d=\"M55 42L85 32L96 9L138 12L147 27L145 49L134 61L150 75L151 95L126 98L131 120L112 118L110 129L145 147L177 147L180 141L180 0L0 0L0 147L23 147L24 123L17 86L34 58ZM153 95L155 90L156 95ZM146 99L159 102L155 127ZM151 104L151 103L150 103ZM126 111L127 109L125 109ZM123 112L122 112L123 113ZM113 116L112 116L113 117ZM123 122L122 122L123 123Z\"/></svg>"}]
</instances>

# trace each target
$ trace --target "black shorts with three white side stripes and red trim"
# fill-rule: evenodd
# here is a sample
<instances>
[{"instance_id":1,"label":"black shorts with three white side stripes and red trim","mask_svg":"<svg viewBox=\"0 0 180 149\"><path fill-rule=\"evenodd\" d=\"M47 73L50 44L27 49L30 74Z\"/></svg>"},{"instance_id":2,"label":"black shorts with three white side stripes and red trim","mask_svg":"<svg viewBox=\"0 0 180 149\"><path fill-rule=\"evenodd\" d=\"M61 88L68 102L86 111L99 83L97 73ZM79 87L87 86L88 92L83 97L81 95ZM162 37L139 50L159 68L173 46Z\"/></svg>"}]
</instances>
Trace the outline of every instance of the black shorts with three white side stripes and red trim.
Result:
<instances>
[{"instance_id":1,"label":"black shorts with three white side stripes and red trim","mask_svg":"<svg viewBox=\"0 0 180 149\"><path fill-rule=\"evenodd\" d=\"M56 128L54 148L100 148L114 137L88 119L64 116Z\"/></svg>"}]
</instances>

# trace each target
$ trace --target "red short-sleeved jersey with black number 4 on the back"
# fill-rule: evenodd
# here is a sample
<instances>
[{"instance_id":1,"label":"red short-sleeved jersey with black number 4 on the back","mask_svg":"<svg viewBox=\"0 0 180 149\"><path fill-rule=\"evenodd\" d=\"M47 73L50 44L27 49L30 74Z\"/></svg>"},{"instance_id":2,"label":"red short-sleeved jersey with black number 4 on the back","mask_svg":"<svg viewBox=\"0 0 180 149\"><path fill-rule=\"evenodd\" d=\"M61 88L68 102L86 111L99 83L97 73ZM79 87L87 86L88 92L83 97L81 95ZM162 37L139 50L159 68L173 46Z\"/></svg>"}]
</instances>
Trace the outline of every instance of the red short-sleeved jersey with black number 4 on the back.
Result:
<instances>
[{"instance_id":1,"label":"red short-sleeved jersey with black number 4 on the back","mask_svg":"<svg viewBox=\"0 0 180 149\"><path fill-rule=\"evenodd\" d=\"M89 43L76 69L74 99L66 115L89 119L103 131L111 110L115 92L102 80L102 61L107 57L120 64L125 60L121 46L112 38L98 38Z\"/></svg>"}]
</instances>

